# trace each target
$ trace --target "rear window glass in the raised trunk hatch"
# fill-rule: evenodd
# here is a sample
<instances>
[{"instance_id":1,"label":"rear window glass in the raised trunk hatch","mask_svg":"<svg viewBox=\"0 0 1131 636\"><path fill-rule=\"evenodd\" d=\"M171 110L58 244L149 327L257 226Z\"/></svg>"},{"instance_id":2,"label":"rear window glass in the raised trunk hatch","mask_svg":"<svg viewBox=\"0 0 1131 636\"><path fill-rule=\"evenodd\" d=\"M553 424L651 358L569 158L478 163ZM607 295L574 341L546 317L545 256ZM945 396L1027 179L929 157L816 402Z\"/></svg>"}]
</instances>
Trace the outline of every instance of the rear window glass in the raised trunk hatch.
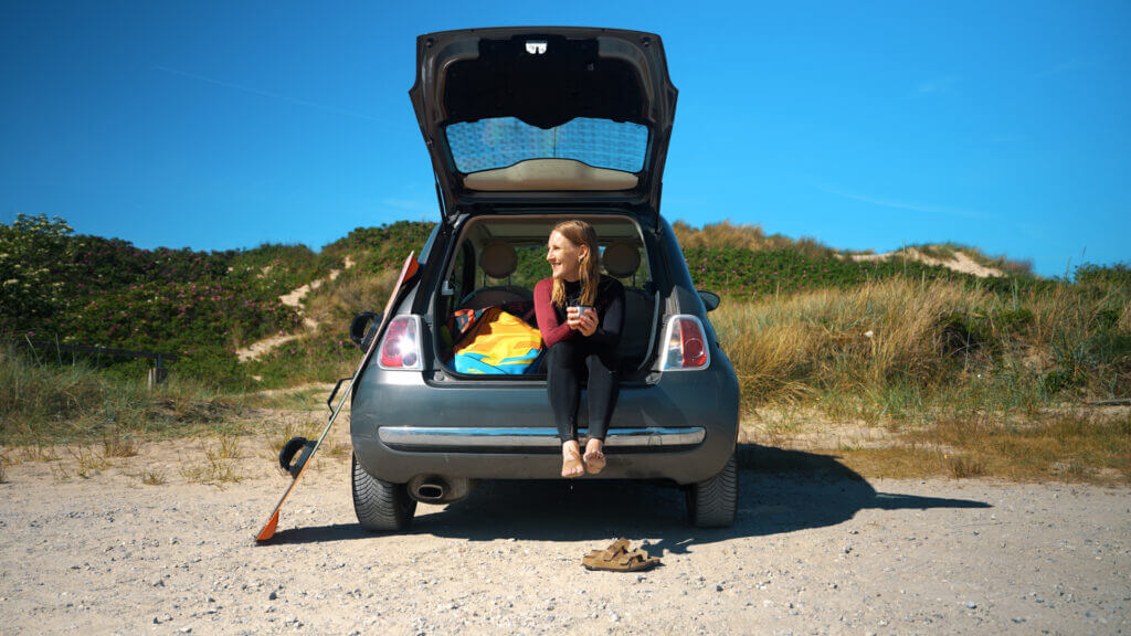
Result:
<instances>
[{"instance_id":1,"label":"rear window glass in the raised trunk hatch","mask_svg":"<svg viewBox=\"0 0 1131 636\"><path fill-rule=\"evenodd\" d=\"M444 129L456 167L464 174L533 158L569 158L622 172L640 172L648 128L579 117L542 129L513 117L452 123Z\"/></svg>"}]
</instances>

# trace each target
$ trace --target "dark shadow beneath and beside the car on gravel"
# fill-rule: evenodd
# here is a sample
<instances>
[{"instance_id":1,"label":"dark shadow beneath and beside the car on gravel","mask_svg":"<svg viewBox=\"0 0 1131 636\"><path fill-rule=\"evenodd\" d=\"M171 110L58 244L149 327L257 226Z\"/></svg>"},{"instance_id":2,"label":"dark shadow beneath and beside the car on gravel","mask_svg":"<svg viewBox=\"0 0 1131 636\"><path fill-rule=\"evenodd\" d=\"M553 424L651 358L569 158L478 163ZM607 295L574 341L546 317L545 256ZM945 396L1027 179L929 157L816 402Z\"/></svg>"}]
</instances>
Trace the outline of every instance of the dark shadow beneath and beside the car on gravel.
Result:
<instances>
[{"instance_id":1,"label":"dark shadow beneath and beside the car on gravel","mask_svg":"<svg viewBox=\"0 0 1131 636\"><path fill-rule=\"evenodd\" d=\"M659 538L649 551L683 553L694 544L836 525L869 508L991 507L969 499L877 492L834 455L757 445L740 445L737 453L739 515L731 527L689 526L683 490L672 485L581 479L486 481L461 501L421 508L407 532L472 541ZM275 542L369 536L356 524L336 524L280 531Z\"/></svg>"}]
</instances>

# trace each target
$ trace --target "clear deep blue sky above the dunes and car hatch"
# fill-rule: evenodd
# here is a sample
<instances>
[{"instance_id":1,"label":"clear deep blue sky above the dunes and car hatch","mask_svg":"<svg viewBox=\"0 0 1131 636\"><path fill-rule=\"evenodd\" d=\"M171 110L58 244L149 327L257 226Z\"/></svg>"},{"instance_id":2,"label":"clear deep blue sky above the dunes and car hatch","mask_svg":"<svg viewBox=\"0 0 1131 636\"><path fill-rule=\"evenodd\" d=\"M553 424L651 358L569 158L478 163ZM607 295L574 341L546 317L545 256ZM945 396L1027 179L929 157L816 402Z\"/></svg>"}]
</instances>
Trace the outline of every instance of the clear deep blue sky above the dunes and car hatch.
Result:
<instances>
[{"instance_id":1,"label":"clear deep blue sky above the dunes and car hatch","mask_svg":"<svg viewBox=\"0 0 1131 636\"><path fill-rule=\"evenodd\" d=\"M439 218L415 37L659 33L663 214L836 248L1131 260L1128 2L5 2L0 222L314 249Z\"/></svg>"}]
</instances>

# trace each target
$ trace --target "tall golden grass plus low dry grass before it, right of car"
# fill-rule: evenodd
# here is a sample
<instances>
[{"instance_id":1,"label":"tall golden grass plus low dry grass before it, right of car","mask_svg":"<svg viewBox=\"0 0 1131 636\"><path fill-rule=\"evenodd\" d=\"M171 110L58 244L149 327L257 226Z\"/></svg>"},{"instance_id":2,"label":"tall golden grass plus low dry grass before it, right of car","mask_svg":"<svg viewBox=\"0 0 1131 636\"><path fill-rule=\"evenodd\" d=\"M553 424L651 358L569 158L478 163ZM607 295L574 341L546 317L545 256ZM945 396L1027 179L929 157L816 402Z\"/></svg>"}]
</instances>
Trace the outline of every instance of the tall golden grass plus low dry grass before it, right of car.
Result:
<instances>
[{"instance_id":1,"label":"tall golden grass plus low dry grass before it, right of car","mask_svg":"<svg viewBox=\"0 0 1131 636\"><path fill-rule=\"evenodd\" d=\"M1131 480L1131 416L1077 406L1131 396L1129 308L1122 286L1002 296L892 278L724 302L711 321L770 444L798 431L765 413L812 413L818 429L893 431L900 449L839 448L866 474Z\"/></svg>"}]
</instances>

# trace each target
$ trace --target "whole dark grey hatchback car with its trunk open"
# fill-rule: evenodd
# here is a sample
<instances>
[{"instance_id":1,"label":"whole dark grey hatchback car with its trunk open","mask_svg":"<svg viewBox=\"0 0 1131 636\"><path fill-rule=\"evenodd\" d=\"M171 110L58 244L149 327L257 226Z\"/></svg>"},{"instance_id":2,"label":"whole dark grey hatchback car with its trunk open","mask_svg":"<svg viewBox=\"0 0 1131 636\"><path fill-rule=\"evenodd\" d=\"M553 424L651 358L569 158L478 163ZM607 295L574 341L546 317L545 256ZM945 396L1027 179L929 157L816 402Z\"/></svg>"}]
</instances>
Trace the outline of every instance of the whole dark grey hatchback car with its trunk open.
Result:
<instances>
[{"instance_id":1,"label":"whole dark grey hatchback car with its trunk open","mask_svg":"<svg viewBox=\"0 0 1131 636\"><path fill-rule=\"evenodd\" d=\"M599 479L667 481L687 489L693 524L733 523L739 385L707 319L718 296L694 289L659 215L676 97L659 37L452 31L418 37L416 59L409 95L442 220L354 386L361 524L405 528L416 501L460 499L482 479L561 479L545 373L466 375L451 359L456 312L532 306L568 218L594 225L603 270L625 287Z\"/></svg>"}]
</instances>

